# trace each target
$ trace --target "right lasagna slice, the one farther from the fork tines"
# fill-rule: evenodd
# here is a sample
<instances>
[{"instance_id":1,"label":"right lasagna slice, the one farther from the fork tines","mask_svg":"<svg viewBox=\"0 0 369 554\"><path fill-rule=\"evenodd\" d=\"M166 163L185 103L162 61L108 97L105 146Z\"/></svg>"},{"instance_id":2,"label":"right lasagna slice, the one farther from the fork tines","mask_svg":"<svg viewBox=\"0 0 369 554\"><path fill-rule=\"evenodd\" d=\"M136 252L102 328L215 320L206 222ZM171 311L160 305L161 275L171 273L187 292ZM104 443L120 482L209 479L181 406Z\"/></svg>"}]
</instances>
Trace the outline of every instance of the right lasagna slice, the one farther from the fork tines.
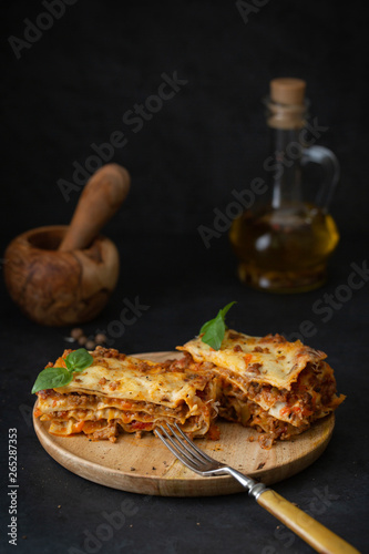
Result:
<instances>
[{"instance_id":1,"label":"right lasagna slice, the one farther from the fork tines","mask_svg":"<svg viewBox=\"0 0 369 554\"><path fill-rule=\"evenodd\" d=\"M268 449L276 439L288 440L334 411L345 399L336 394L334 371L326 355L280 335L250 337L226 330L219 350L201 337L178 350L195 362L213 363L222 379L219 414L262 434Z\"/></svg>"}]
</instances>

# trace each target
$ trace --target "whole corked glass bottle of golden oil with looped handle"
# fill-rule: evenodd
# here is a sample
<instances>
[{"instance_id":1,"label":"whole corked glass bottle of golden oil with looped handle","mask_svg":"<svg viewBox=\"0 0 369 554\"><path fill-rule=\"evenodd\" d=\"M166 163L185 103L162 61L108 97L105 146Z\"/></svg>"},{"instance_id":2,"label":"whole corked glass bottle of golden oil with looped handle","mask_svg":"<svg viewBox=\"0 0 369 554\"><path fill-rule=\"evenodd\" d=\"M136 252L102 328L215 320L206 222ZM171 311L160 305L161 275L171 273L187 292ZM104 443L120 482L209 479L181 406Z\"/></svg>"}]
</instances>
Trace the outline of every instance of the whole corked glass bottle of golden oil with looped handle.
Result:
<instances>
[{"instance_id":1,"label":"whole corked glass bottle of golden oil with looped handle","mask_svg":"<svg viewBox=\"0 0 369 554\"><path fill-rule=\"evenodd\" d=\"M238 277L249 286L271 293L301 293L322 285L327 259L339 233L327 212L338 179L336 156L321 146L304 145L306 83L298 79L270 82L267 123L273 167L269 195L237 217L229 240L238 258ZM303 198L301 166L322 165L326 179L320 205Z\"/></svg>"}]
</instances>

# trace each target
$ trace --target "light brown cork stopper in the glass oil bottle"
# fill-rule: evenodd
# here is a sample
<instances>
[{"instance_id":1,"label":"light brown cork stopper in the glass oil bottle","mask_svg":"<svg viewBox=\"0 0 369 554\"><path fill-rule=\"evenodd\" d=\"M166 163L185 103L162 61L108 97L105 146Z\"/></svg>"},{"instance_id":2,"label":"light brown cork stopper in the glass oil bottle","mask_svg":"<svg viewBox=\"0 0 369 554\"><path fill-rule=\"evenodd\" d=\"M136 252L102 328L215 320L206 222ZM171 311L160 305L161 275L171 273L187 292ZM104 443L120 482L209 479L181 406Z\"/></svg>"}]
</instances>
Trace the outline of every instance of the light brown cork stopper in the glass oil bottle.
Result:
<instances>
[{"instance_id":1,"label":"light brown cork stopper in the glass oil bottle","mask_svg":"<svg viewBox=\"0 0 369 554\"><path fill-rule=\"evenodd\" d=\"M305 125L306 82L303 79L278 78L269 83L267 123L270 127L297 130Z\"/></svg>"}]
</instances>

